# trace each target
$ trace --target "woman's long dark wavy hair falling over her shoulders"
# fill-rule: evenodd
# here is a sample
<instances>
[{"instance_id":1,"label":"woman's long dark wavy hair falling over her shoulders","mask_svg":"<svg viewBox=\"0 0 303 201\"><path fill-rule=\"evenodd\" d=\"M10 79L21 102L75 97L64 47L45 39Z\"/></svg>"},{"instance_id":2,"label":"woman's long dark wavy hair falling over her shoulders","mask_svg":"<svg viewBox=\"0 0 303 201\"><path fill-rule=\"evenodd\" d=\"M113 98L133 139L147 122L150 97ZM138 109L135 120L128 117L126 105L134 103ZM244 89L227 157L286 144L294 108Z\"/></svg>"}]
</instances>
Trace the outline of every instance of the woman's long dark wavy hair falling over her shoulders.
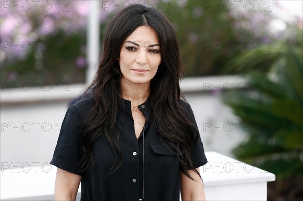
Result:
<instances>
[{"instance_id":1,"label":"woman's long dark wavy hair falling over her shoulders","mask_svg":"<svg viewBox=\"0 0 303 201\"><path fill-rule=\"evenodd\" d=\"M161 47L162 62L150 83L148 99L151 118L155 121L159 135L178 153L182 172L192 179L187 170L193 169L200 176L189 154L192 141L198 138L193 132L198 131L190 122L186 108L179 101L180 98L185 100L185 97L179 86L183 70L176 33L162 12L140 4L132 4L121 10L105 31L99 67L87 89L93 91L95 104L84 120L80 140L80 171L93 167L93 145L100 135L106 136L115 155L109 174L114 173L122 164L123 154L118 143L119 130L116 125L122 74L117 58L125 39L139 26L153 28Z\"/></svg>"}]
</instances>

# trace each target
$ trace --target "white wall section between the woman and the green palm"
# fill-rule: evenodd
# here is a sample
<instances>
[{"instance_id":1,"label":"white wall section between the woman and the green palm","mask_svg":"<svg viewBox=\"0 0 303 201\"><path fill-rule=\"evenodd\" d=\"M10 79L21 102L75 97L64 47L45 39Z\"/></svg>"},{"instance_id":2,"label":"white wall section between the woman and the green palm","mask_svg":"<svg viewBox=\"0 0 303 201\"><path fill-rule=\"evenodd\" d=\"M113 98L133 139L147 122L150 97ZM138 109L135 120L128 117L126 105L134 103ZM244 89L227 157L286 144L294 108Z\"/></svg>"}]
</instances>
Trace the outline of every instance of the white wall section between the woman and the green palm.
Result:
<instances>
[{"instance_id":1,"label":"white wall section between the woman and the green palm","mask_svg":"<svg viewBox=\"0 0 303 201\"><path fill-rule=\"evenodd\" d=\"M235 122L239 122L239 119L232 110L216 94L191 94L186 98L195 114L205 151L232 157L231 150L246 138L237 129L238 123Z\"/></svg>"}]
</instances>

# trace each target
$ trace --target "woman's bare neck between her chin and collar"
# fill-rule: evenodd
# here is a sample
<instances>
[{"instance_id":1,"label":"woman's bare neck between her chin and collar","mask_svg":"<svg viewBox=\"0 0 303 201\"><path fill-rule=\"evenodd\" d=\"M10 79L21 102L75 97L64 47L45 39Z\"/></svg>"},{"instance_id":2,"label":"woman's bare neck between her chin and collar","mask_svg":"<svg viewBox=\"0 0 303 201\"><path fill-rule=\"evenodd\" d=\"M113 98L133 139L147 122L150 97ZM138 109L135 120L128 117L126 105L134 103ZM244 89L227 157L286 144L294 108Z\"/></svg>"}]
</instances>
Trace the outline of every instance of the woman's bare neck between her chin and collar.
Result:
<instances>
[{"instance_id":1,"label":"woman's bare neck between her chin and collar","mask_svg":"<svg viewBox=\"0 0 303 201\"><path fill-rule=\"evenodd\" d=\"M133 83L121 80L121 96L123 99L131 101L132 107L144 103L150 94L150 82Z\"/></svg>"}]
</instances>

